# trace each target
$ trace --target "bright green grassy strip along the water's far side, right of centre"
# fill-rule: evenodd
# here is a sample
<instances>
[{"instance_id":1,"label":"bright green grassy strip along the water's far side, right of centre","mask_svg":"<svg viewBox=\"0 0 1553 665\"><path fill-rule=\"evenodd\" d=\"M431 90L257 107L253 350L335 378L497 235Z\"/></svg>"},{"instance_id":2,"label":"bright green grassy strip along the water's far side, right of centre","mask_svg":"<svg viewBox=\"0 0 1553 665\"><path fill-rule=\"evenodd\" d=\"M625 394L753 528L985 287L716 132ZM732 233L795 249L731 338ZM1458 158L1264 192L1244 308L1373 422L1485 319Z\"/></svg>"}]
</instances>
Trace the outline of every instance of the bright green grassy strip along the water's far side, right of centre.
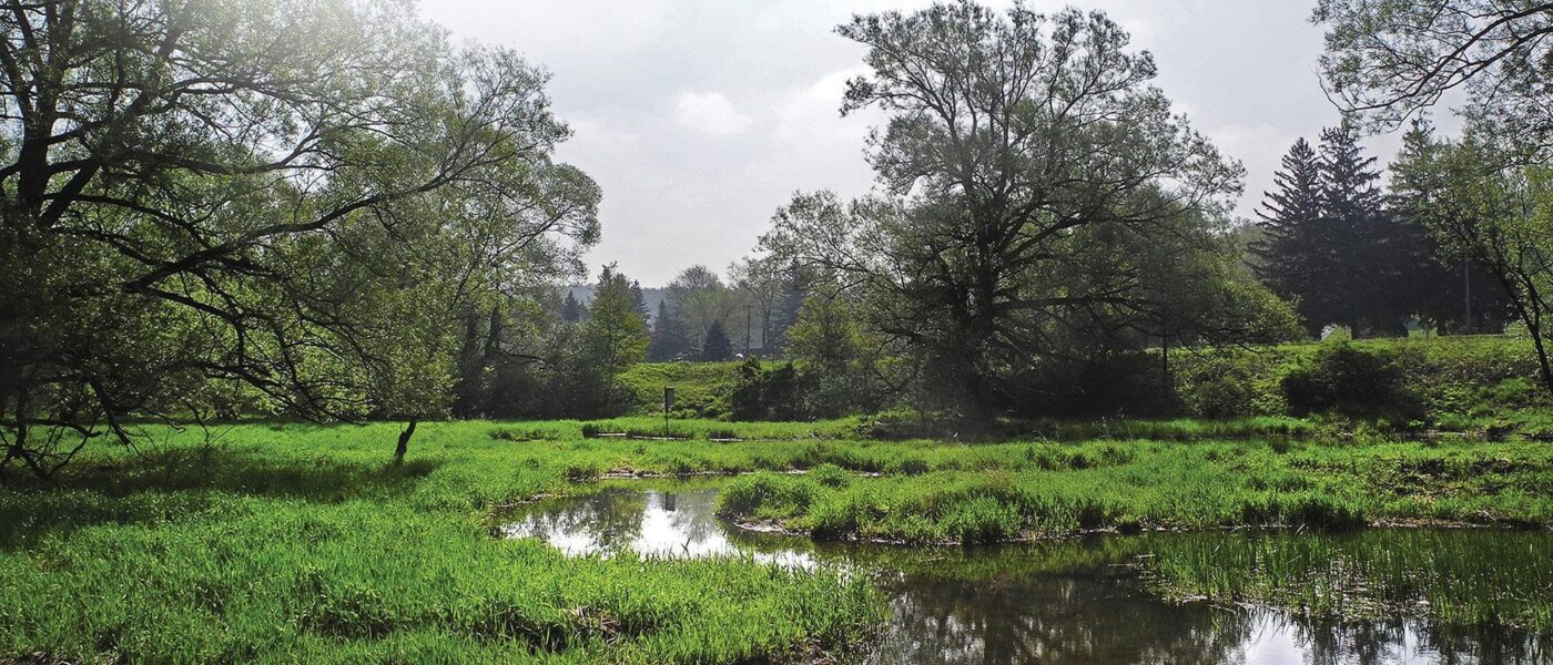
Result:
<instances>
[{"instance_id":1,"label":"bright green grassy strip along the water's far side, right of centre","mask_svg":"<svg viewBox=\"0 0 1553 665\"><path fill-rule=\"evenodd\" d=\"M1541 443L1025 443L995 446L989 457L1002 463L977 471L985 450L922 453L922 462L879 477L741 477L721 510L820 539L902 543L1107 529L1553 524L1553 451Z\"/></svg>"}]
</instances>

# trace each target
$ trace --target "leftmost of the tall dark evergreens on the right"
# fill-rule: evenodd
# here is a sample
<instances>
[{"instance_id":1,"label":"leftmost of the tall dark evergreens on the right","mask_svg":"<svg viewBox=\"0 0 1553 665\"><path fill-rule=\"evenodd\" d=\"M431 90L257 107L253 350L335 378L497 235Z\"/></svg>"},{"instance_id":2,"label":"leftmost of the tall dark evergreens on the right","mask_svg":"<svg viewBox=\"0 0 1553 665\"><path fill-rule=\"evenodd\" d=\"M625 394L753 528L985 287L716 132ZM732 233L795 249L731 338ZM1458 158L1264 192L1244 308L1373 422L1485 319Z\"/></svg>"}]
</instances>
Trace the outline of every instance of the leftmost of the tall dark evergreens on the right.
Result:
<instances>
[{"instance_id":1,"label":"leftmost of the tall dark evergreens on the right","mask_svg":"<svg viewBox=\"0 0 1553 665\"><path fill-rule=\"evenodd\" d=\"M1283 158L1283 171L1273 177L1275 192L1266 192L1267 200L1261 217L1263 239L1252 243L1250 251L1259 262L1256 276L1278 296L1295 302L1300 318L1312 336L1326 326L1326 308L1317 288L1315 276L1328 270L1322 262L1322 161L1303 138L1289 147Z\"/></svg>"}]
</instances>

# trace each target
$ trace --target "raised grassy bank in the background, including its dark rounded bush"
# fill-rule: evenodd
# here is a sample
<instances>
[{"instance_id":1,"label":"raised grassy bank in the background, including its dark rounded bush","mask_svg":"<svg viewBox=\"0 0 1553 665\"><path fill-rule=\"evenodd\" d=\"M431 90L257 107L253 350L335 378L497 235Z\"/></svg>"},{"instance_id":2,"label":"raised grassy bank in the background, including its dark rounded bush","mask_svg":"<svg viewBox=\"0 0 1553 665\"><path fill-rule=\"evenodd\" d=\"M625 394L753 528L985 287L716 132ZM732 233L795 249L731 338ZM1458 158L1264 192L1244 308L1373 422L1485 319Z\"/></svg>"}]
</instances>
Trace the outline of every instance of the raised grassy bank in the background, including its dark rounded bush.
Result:
<instances>
[{"instance_id":1,"label":"raised grassy bank in the background, including its dark rounded bush","mask_svg":"<svg viewBox=\"0 0 1553 665\"><path fill-rule=\"evenodd\" d=\"M1382 422L1387 429L1446 429L1485 437L1553 437L1553 400L1537 381L1528 339L1447 336L1303 343L1258 347L1177 350L1171 355L1171 397L1163 398L1157 352L1120 361L1081 395L1086 420L1096 414L1263 420L1266 434L1329 426L1332 420ZM1073 392L1059 384L1027 386L1034 394ZM738 363L644 363L621 375L626 409L660 414L663 388L677 391L677 417L727 419L739 381ZM1070 400L1072 401L1072 400ZM1062 415L1050 414L1050 415ZM1075 415L1075 414L1068 414ZM1160 420L1169 422L1169 419ZM1064 423L1036 423L1028 434L1065 432ZM1367 426L1368 426L1367 425ZM1107 423L1086 425L1106 436ZM1233 434L1238 429L1232 429ZM1168 432L1166 432L1168 434ZM1135 436L1155 437L1140 431ZM1171 437L1171 436L1165 436Z\"/></svg>"}]
</instances>

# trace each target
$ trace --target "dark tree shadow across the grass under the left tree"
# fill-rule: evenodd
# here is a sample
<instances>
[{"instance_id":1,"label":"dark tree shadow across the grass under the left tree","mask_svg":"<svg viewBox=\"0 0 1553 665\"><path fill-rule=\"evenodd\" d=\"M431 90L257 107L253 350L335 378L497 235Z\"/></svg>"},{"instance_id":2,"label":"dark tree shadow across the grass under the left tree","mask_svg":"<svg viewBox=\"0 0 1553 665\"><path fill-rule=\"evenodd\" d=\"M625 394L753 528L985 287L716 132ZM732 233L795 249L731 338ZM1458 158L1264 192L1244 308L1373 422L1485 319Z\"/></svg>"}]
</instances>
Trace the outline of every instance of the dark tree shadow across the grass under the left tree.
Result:
<instances>
[{"instance_id":1,"label":"dark tree shadow across the grass under the left tree","mask_svg":"<svg viewBox=\"0 0 1553 665\"><path fill-rule=\"evenodd\" d=\"M53 484L22 481L0 490L0 549L96 524L185 519L217 508L222 498L391 499L415 491L439 465L267 457L224 446L81 460Z\"/></svg>"}]
</instances>

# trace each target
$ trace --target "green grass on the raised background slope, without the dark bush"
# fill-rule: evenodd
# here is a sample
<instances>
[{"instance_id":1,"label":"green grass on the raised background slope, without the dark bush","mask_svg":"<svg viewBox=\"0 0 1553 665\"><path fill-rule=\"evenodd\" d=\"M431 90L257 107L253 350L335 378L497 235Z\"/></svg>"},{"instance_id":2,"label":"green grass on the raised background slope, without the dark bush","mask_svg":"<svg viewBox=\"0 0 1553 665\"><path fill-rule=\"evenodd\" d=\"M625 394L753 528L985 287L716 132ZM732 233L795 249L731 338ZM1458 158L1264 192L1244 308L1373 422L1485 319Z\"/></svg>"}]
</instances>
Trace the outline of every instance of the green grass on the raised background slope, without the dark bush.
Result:
<instances>
[{"instance_id":1,"label":"green grass on the raised background slope, without the dark bush","mask_svg":"<svg viewBox=\"0 0 1553 665\"><path fill-rule=\"evenodd\" d=\"M1171 357L1176 405L1154 405L1149 412L1179 414L1194 420L1137 419L1014 423L1025 434L1064 440L1118 439L1225 439L1256 436L1311 436L1351 423L1329 417L1291 417L1283 380L1306 367L1328 343L1176 352ZM1360 339L1354 349L1395 360L1401 372L1398 392L1416 411L1381 423L1385 431L1421 432L1446 429L1497 439L1511 434L1553 439L1553 398L1537 383L1536 357L1528 339L1513 336L1444 336L1409 339ZM1145 358L1146 360L1146 358ZM727 400L738 383L738 363L643 363L620 377L627 392L626 409L634 415L658 415L663 388L674 386L677 419L727 419ZM1154 367L1155 361L1146 361ZM1118 395L1157 392L1159 377ZM1061 389L1062 386L1050 386ZM1143 405L1115 405L1137 415ZM1208 419L1208 420L1196 420ZM1173 425L1174 423L1174 425ZM867 425L867 419L860 422ZM1185 425L1185 426L1182 426ZM1371 426L1367 423L1362 426ZM1118 432L1131 426L1131 432Z\"/></svg>"}]
</instances>

